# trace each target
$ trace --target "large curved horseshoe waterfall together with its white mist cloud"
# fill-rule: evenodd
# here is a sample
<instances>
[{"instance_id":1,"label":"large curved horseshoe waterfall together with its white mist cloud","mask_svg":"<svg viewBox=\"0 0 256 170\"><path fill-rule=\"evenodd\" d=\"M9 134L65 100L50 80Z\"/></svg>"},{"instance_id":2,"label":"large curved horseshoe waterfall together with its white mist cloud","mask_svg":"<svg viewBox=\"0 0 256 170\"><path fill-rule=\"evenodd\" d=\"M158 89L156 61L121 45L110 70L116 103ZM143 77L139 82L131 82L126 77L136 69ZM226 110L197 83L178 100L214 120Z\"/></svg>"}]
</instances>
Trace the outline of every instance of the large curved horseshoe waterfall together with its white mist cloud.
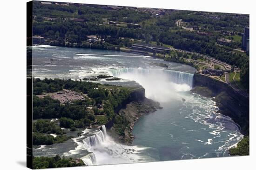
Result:
<instances>
[{"instance_id":1,"label":"large curved horseshoe waterfall together with its white mist cloud","mask_svg":"<svg viewBox=\"0 0 256 170\"><path fill-rule=\"evenodd\" d=\"M174 70L126 68L111 73L140 83L146 89L145 96L159 102L177 98L177 92L189 91L193 85L193 74Z\"/></svg>"}]
</instances>

